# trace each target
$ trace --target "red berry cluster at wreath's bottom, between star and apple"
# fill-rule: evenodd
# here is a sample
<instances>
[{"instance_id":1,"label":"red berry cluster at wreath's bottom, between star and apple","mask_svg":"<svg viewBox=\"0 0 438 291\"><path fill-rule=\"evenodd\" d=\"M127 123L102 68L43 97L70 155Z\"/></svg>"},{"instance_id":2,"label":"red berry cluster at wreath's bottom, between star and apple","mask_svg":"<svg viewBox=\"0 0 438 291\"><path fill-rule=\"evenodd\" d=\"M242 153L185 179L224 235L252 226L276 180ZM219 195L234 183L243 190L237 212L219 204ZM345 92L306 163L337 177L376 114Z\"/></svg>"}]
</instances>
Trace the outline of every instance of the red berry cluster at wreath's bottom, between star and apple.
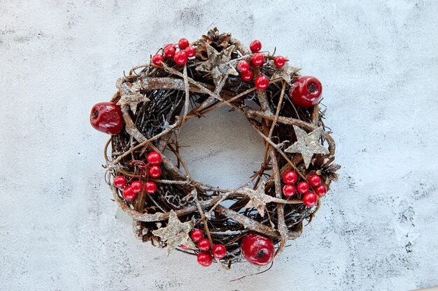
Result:
<instances>
[{"instance_id":1,"label":"red berry cluster at wreath's bottom, between star and apple","mask_svg":"<svg viewBox=\"0 0 438 291\"><path fill-rule=\"evenodd\" d=\"M197 241L199 251L202 251L202 253L197 255L197 261L201 266L209 267L213 262L213 257L218 260L225 257L227 249L223 244L215 244L213 248L211 248L211 253L208 253L211 244L209 239L204 239L204 232L202 232L202 230L192 230L190 237L193 241ZM187 248L186 246L182 247Z\"/></svg>"}]
</instances>

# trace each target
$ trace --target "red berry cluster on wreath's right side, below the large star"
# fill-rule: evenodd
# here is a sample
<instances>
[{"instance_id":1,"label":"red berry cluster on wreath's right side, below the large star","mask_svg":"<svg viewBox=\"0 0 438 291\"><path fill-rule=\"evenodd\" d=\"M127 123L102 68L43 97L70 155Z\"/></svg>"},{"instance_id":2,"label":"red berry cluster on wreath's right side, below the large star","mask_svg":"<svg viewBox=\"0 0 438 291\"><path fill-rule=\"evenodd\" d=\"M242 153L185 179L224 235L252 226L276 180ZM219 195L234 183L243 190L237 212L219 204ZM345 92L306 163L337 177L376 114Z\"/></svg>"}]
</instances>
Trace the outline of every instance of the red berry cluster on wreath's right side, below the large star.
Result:
<instances>
[{"instance_id":1,"label":"red berry cluster on wreath's right side, below the large star","mask_svg":"<svg viewBox=\"0 0 438 291\"><path fill-rule=\"evenodd\" d=\"M307 207L313 207L318 202L318 196L323 197L327 193L327 188L321 184L321 177L317 174L309 177L309 183L301 181L295 188L294 184L298 181L298 175L296 172L289 170L283 174L283 181L285 186L283 187L283 195L286 197L292 197L296 192L303 195L302 199ZM309 185L310 184L310 185ZM313 187L313 191L310 191L310 186Z\"/></svg>"}]
</instances>

